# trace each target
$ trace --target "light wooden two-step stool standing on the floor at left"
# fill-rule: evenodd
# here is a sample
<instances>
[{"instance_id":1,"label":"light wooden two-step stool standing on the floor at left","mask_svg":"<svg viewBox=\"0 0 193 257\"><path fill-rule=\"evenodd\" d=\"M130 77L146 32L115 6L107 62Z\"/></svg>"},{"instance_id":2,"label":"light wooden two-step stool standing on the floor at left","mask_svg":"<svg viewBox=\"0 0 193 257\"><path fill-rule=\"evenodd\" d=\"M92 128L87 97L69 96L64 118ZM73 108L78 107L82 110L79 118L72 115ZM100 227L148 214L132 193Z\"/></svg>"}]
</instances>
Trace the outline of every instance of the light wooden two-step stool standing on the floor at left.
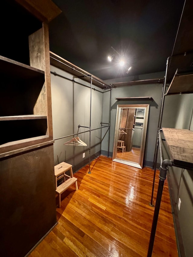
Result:
<instances>
[{"instance_id":1,"label":"light wooden two-step stool standing on the floor at left","mask_svg":"<svg viewBox=\"0 0 193 257\"><path fill-rule=\"evenodd\" d=\"M70 176L65 174L66 171L70 171ZM72 165L64 161L54 166L54 174L55 174L55 188L56 188L55 192L58 195L58 199L59 199L58 206L60 208L61 194L74 183L76 183L76 190L78 190L77 178L73 177ZM64 177L64 182L61 185L57 186L57 181L62 177ZM67 180L66 180L66 177L68 177Z\"/></svg>"}]
</instances>

